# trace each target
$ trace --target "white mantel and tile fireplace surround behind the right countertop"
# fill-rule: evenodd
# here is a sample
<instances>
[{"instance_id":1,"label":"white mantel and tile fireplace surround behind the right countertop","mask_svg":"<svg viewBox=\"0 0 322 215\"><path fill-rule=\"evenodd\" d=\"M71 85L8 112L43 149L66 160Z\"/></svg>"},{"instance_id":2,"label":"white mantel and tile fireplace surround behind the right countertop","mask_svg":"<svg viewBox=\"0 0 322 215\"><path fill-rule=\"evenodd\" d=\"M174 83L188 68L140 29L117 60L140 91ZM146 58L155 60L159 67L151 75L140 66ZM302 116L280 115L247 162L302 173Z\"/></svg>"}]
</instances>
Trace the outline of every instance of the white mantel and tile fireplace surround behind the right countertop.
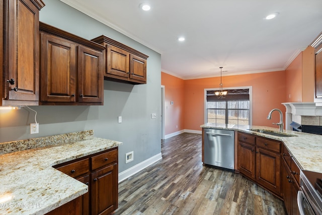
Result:
<instances>
[{"instance_id":1,"label":"white mantel and tile fireplace surround behind the right countertop","mask_svg":"<svg viewBox=\"0 0 322 215\"><path fill-rule=\"evenodd\" d=\"M301 125L322 126L322 106L314 102L287 102L282 103L286 107L285 128L292 130L292 121Z\"/></svg>"}]
</instances>

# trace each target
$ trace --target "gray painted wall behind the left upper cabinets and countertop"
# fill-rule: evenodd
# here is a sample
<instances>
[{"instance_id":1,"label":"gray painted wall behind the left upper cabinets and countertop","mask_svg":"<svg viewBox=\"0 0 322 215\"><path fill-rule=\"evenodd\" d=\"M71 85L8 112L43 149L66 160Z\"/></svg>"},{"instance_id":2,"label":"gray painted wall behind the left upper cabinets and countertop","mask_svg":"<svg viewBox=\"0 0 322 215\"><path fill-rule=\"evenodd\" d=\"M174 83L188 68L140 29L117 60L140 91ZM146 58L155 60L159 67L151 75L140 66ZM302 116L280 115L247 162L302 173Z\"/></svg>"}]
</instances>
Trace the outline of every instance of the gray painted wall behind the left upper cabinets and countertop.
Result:
<instances>
[{"instance_id":1,"label":"gray painted wall behind the left upper cabinets and countertop","mask_svg":"<svg viewBox=\"0 0 322 215\"><path fill-rule=\"evenodd\" d=\"M149 55L147 84L130 85L104 81L104 106L33 106L39 133L30 134L35 113L28 108L0 110L0 142L94 130L97 137L122 141L119 172L161 152L160 86L161 56L129 37L57 0L44 0L40 21L86 39L102 34ZM151 119L156 113L156 119ZM118 123L122 116L122 123ZM134 151L134 161L125 164L125 154Z\"/></svg>"}]
</instances>

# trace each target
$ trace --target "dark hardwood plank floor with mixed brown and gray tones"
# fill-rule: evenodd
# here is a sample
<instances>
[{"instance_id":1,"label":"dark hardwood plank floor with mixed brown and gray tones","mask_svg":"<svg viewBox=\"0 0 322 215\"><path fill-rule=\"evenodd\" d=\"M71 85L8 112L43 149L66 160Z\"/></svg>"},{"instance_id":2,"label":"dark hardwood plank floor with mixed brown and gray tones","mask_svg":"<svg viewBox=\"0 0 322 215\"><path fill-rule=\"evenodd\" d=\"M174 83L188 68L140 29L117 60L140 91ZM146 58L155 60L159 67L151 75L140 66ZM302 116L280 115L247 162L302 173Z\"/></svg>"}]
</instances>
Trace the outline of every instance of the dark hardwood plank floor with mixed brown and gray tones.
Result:
<instances>
[{"instance_id":1,"label":"dark hardwood plank floor with mixed brown and gray tones","mask_svg":"<svg viewBox=\"0 0 322 215\"><path fill-rule=\"evenodd\" d=\"M162 141L162 156L119 184L115 214L285 214L283 202L254 182L203 166L201 134Z\"/></svg>"}]
</instances>

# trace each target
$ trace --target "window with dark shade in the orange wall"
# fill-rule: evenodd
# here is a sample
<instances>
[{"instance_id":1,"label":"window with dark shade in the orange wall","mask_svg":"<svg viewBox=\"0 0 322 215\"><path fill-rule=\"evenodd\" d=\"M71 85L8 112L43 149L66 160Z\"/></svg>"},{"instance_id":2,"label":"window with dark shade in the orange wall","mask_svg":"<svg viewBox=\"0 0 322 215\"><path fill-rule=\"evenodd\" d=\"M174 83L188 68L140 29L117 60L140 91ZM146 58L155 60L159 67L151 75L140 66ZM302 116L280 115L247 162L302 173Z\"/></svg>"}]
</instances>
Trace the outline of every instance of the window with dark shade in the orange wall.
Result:
<instances>
[{"instance_id":1,"label":"window with dark shade in the orange wall","mask_svg":"<svg viewBox=\"0 0 322 215\"><path fill-rule=\"evenodd\" d=\"M206 90L206 122L250 125L250 88L227 90L224 99L215 96L216 90Z\"/></svg>"}]
</instances>

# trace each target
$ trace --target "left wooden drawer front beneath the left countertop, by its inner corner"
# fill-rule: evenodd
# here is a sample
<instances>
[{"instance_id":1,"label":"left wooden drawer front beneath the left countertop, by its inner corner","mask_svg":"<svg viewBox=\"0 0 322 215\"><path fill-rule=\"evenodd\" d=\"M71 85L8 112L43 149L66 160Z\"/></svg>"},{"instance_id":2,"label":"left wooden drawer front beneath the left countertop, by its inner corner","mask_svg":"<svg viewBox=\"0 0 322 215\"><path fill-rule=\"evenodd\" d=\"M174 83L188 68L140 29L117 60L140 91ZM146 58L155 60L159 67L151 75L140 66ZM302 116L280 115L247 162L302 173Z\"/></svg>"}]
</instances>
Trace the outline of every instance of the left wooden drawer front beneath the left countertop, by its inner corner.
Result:
<instances>
[{"instance_id":1,"label":"left wooden drawer front beneath the left countertop, by its inner corner","mask_svg":"<svg viewBox=\"0 0 322 215\"><path fill-rule=\"evenodd\" d=\"M87 158L81 161L76 161L56 169L69 175L70 177L75 178L89 172L89 159Z\"/></svg>"}]
</instances>

